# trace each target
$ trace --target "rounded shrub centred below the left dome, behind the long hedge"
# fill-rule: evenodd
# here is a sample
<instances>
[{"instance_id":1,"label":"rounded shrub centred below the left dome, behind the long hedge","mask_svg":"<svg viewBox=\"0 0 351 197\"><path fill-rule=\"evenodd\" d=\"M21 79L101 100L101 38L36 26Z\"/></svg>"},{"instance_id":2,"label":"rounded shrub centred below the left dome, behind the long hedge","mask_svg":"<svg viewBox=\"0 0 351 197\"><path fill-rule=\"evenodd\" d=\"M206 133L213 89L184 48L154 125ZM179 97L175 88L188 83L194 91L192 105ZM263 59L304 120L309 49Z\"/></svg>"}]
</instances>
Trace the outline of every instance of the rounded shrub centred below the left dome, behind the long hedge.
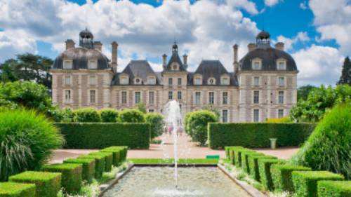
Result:
<instances>
[{"instance_id":1,"label":"rounded shrub centred below the left dome, behind the long hedge","mask_svg":"<svg viewBox=\"0 0 351 197\"><path fill-rule=\"evenodd\" d=\"M79 123L95 123L100 122L101 117L98 111L93 108L82 108L76 109L73 111L74 114L74 122Z\"/></svg>"}]
</instances>

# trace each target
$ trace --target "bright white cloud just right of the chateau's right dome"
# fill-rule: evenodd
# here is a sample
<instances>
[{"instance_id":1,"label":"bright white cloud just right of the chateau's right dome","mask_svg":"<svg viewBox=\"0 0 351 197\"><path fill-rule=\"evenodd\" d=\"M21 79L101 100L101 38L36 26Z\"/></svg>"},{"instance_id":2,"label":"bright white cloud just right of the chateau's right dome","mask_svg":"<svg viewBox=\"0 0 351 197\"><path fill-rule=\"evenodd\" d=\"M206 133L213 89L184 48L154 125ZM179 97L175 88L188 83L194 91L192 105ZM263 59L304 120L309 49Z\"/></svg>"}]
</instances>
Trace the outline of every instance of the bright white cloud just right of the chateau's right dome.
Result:
<instances>
[{"instance_id":1,"label":"bright white cloud just right of the chateau's right dome","mask_svg":"<svg viewBox=\"0 0 351 197\"><path fill-rule=\"evenodd\" d=\"M343 55L337 48L312 45L292 54L298 70L298 86L335 85L340 77Z\"/></svg>"}]
</instances>

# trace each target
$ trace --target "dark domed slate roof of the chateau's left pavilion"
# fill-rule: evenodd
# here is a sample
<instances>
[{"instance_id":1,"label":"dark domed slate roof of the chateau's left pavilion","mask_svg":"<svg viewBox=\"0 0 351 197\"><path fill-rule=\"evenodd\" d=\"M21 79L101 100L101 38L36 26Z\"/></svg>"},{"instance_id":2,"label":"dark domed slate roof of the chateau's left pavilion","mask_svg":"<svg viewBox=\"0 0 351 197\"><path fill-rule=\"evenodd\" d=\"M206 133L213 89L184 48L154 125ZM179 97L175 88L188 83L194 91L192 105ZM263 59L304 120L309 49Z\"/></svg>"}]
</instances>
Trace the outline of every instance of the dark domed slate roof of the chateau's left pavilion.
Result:
<instances>
[{"instance_id":1,"label":"dark domed slate roof of the chateau's left pavilion","mask_svg":"<svg viewBox=\"0 0 351 197\"><path fill-rule=\"evenodd\" d=\"M93 48L69 48L56 57L53 69L62 69L62 60L73 60L72 69L88 69L88 60L98 60L98 69L110 69L108 58Z\"/></svg>"}]
</instances>

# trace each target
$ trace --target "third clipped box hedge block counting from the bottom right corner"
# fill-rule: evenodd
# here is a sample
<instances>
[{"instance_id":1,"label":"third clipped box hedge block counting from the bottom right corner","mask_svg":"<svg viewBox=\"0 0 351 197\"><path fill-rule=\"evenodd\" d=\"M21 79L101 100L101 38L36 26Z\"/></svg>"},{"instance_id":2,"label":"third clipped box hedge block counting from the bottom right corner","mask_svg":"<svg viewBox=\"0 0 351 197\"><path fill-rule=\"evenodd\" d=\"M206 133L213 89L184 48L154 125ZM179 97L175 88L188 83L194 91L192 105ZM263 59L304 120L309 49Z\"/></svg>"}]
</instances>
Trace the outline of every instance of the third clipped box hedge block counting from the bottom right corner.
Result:
<instances>
[{"instance_id":1,"label":"third clipped box hedge block counting from the bottom right corner","mask_svg":"<svg viewBox=\"0 0 351 197\"><path fill-rule=\"evenodd\" d=\"M311 168L300 165L274 164L271 168L274 189L277 191L293 192L293 171L309 171Z\"/></svg>"}]
</instances>

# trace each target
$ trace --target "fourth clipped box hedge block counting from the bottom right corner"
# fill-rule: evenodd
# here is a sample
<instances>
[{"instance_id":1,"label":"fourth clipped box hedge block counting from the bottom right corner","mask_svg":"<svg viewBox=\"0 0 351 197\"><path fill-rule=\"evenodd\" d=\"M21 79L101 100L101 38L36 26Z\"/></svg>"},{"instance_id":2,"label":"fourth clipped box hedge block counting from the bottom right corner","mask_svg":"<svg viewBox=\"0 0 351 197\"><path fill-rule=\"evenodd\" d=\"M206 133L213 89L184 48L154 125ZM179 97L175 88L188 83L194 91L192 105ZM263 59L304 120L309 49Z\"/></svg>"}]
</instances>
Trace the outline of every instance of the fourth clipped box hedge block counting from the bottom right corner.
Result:
<instances>
[{"instance_id":1,"label":"fourth clipped box hedge block counting from the bottom right corner","mask_svg":"<svg viewBox=\"0 0 351 197\"><path fill-rule=\"evenodd\" d=\"M258 158L258 172L260 173L260 182L265 189L274 190L272 181L271 167L273 164L283 163L276 158Z\"/></svg>"}]
</instances>

